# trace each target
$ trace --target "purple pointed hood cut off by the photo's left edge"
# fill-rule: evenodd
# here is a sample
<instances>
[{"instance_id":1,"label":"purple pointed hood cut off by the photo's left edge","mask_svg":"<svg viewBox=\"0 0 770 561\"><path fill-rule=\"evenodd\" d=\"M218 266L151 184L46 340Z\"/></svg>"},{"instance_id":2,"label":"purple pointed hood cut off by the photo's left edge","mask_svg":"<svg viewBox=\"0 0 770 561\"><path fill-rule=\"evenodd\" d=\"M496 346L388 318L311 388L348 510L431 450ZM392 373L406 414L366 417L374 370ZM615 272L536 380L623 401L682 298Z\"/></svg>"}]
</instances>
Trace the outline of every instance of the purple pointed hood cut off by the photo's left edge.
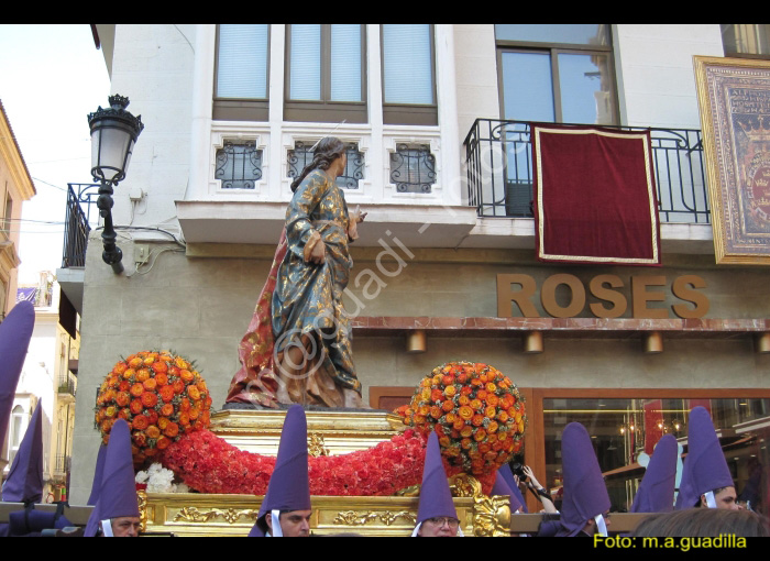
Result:
<instances>
[{"instance_id":1,"label":"purple pointed hood cut off by the photo's left edge","mask_svg":"<svg viewBox=\"0 0 770 561\"><path fill-rule=\"evenodd\" d=\"M0 443L6 441L13 396L34 327L35 308L26 300L16 302L0 323Z\"/></svg>"}]
</instances>

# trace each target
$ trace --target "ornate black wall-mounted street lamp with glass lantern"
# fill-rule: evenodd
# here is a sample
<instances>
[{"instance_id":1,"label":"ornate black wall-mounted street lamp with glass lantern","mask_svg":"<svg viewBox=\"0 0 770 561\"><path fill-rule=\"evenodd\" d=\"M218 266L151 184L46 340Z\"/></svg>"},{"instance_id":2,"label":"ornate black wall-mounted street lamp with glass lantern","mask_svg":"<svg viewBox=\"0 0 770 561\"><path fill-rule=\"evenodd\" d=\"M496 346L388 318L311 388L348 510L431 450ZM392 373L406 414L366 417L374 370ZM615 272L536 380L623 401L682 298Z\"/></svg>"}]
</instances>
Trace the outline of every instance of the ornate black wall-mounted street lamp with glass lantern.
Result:
<instances>
[{"instance_id":1,"label":"ornate black wall-mounted street lamp with glass lantern","mask_svg":"<svg viewBox=\"0 0 770 561\"><path fill-rule=\"evenodd\" d=\"M116 245L114 228L112 226L112 187L125 178L131 153L144 124L142 117L134 117L125 108L129 98L110 96L110 108L99 109L88 116L91 128L91 175L99 182L99 198L97 207L105 220L101 239L105 251L101 257L112 267L116 274L123 272L123 252Z\"/></svg>"}]
</instances>

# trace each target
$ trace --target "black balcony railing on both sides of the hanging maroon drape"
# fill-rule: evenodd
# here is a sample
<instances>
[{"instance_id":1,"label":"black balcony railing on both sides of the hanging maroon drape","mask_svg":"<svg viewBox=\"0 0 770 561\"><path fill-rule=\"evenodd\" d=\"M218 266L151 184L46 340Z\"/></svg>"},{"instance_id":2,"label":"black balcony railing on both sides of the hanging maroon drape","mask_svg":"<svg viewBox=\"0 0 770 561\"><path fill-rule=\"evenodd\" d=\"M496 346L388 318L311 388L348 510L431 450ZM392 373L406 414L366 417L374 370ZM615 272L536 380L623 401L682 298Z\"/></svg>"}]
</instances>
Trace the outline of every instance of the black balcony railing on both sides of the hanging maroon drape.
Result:
<instances>
[{"instance_id":1,"label":"black balcony railing on both sides of the hanging maroon drape","mask_svg":"<svg viewBox=\"0 0 770 561\"><path fill-rule=\"evenodd\" d=\"M708 223L701 131L649 130L662 222ZM532 217L532 145L529 123L476 119L465 138L468 204L480 217Z\"/></svg>"}]
</instances>

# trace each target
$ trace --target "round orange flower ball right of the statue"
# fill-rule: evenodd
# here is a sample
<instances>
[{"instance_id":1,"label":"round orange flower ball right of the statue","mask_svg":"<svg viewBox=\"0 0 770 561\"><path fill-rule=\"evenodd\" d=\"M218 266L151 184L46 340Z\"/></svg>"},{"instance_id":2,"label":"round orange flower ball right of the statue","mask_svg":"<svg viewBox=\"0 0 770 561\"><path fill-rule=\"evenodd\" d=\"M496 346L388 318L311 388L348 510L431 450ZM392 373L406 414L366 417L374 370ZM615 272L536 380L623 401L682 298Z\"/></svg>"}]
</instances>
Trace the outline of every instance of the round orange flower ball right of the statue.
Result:
<instances>
[{"instance_id":1,"label":"round orange flower ball right of the statue","mask_svg":"<svg viewBox=\"0 0 770 561\"><path fill-rule=\"evenodd\" d=\"M508 462L521 449L527 426L516 385L482 363L450 362L433 369L411 403L396 413L425 435L435 430L449 464L476 476Z\"/></svg>"}]
</instances>

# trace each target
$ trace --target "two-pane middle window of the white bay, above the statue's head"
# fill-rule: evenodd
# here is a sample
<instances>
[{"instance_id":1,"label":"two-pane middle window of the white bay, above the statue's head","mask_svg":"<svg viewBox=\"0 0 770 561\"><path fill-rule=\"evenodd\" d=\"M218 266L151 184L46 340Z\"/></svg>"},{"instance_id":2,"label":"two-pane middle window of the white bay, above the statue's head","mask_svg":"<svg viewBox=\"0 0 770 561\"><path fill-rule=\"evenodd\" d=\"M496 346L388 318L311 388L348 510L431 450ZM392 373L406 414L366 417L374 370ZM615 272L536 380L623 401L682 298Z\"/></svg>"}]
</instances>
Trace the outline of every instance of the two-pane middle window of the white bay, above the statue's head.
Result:
<instances>
[{"instance_id":1,"label":"two-pane middle window of the white bay, above the statue's head","mask_svg":"<svg viewBox=\"0 0 770 561\"><path fill-rule=\"evenodd\" d=\"M361 24L286 29L287 121L367 121L365 33Z\"/></svg>"}]
</instances>

